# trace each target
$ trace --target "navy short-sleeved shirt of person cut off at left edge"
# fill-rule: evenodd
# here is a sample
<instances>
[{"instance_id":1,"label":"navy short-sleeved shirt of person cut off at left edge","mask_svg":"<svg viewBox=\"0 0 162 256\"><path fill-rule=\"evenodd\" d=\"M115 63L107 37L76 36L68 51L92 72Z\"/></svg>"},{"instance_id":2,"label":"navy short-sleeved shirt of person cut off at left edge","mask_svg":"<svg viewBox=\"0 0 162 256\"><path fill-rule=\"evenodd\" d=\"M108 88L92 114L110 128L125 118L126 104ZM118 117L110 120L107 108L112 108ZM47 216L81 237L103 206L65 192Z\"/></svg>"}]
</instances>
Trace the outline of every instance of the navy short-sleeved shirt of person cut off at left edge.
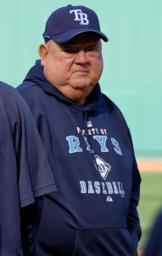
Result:
<instances>
[{"instance_id":1,"label":"navy short-sleeved shirt of person cut off at left edge","mask_svg":"<svg viewBox=\"0 0 162 256\"><path fill-rule=\"evenodd\" d=\"M0 256L23 255L21 211L54 190L29 108L14 88L0 82Z\"/></svg>"}]
</instances>

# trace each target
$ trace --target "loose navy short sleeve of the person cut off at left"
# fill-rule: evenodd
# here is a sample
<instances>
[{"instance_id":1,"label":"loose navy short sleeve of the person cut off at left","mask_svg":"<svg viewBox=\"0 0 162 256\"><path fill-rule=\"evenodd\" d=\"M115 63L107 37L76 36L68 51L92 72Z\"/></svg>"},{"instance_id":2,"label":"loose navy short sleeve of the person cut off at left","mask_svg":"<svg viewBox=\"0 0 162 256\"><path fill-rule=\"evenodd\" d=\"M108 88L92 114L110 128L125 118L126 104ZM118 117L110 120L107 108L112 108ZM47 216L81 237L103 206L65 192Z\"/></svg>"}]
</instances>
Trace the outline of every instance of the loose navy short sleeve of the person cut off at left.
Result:
<instances>
[{"instance_id":1,"label":"loose navy short sleeve of the person cut off at left","mask_svg":"<svg viewBox=\"0 0 162 256\"><path fill-rule=\"evenodd\" d=\"M24 100L20 100L17 109L20 124L14 126L14 143L19 170L20 206L25 207L36 197L55 191L56 186L34 119Z\"/></svg>"}]
</instances>

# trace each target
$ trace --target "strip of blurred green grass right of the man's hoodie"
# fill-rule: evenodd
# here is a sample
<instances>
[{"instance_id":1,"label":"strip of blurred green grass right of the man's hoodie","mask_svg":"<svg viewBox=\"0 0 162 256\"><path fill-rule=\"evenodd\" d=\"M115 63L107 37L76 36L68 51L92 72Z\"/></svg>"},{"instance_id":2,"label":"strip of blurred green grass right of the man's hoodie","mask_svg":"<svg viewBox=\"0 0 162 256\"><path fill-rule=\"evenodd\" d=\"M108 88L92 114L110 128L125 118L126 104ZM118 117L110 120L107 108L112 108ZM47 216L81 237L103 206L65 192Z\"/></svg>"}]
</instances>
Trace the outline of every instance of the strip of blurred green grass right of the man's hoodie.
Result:
<instances>
[{"instance_id":1,"label":"strip of blurred green grass right of the man's hoodie","mask_svg":"<svg viewBox=\"0 0 162 256\"><path fill-rule=\"evenodd\" d=\"M141 172L141 177L141 197L138 206L142 225L140 249L144 248L154 219L162 207L162 172Z\"/></svg>"}]
</instances>

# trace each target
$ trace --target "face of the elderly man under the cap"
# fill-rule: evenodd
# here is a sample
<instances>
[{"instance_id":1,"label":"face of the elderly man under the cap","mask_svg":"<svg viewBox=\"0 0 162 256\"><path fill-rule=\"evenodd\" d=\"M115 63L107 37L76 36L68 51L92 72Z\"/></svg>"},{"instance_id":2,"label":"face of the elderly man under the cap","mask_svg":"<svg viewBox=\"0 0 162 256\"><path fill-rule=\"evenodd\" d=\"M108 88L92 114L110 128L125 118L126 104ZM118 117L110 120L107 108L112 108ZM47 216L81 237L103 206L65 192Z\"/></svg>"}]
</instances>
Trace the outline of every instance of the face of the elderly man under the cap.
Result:
<instances>
[{"instance_id":1,"label":"face of the elderly man under the cap","mask_svg":"<svg viewBox=\"0 0 162 256\"><path fill-rule=\"evenodd\" d=\"M41 47L46 47L45 55ZM93 32L82 33L65 44L50 40L40 46L40 55L47 80L75 102L85 101L103 71L101 42Z\"/></svg>"}]
</instances>

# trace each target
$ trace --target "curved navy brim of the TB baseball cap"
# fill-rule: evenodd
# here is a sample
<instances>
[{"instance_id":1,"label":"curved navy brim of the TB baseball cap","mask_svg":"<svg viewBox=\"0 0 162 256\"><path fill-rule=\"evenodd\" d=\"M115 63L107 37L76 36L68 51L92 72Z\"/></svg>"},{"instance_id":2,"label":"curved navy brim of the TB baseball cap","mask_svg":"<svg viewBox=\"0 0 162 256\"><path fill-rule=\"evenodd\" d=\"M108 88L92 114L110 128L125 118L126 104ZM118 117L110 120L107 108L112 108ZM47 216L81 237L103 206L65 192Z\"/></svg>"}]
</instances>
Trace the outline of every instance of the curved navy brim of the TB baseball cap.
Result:
<instances>
[{"instance_id":1,"label":"curved navy brim of the TB baseball cap","mask_svg":"<svg viewBox=\"0 0 162 256\"><path fill-rule=\"evenodd\" d=\"M100 36L100 38L103 39L104 42L109 41L109 39L106 37L106 35L104 35L102 32L98 32L98 31L90 30L90 29L83 29L83 28L76 29L75 31L73 30L73 31L67 31L64 33L60 33L56 36L53 36L52 39L54 42L57 42L59 44L64 44L64 43L68 42L70 39L74 38L75 36L77 36L83 32L97 33ZM46 36L44 38L46 38Z\"/></svg>"}]
</instances>

